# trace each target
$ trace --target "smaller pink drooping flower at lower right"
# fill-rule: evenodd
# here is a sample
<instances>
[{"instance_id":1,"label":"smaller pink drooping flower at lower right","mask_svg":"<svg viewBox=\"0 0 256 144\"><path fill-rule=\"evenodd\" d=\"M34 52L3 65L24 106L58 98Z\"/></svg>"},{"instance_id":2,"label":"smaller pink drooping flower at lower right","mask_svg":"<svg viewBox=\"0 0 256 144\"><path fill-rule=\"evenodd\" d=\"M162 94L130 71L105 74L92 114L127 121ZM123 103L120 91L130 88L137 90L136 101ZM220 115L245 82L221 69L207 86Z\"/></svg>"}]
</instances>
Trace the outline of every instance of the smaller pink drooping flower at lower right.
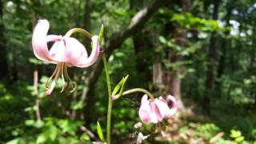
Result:
<instances>
[{"instance_id":1,"label":"smaller pink drooping flower at lower right","mask_svg":"<svg viewBox=\"0 0 256 144\"><path fill-rule=\"evenodd\" d=\"M158 123L164 118L170 118L176 111L177 104L173 96L168 95L166 99L159 97L152 100L145 94L142 97L138 115L144 123Z\"/></svg>"}]
</instances>

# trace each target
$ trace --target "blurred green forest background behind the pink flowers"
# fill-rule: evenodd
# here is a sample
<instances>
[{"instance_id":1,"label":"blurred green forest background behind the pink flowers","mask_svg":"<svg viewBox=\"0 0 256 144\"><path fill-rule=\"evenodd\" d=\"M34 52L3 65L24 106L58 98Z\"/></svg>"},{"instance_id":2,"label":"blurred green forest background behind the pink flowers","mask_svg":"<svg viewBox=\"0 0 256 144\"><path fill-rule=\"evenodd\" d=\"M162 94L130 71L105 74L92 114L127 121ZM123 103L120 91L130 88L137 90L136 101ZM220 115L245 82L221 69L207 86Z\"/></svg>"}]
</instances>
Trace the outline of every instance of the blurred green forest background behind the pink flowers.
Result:
<instances>
[{"instance_id":1,"label":"blurred green forest background behind the pink flowers","mask_svg":"<svg viewBox=\"0 0 256 144\"><path fill-rule=\"evenodd\" d=\"M256 143L256 2L254 0L0 0L0 143L90 143L106 133L102 59L71 67L78 89L45 96L54 65L34 57L38 19L49 34L82 27L98 34L111 84L174 95L178 114L140 128L142 94L114 103L113 143ZM76 34L87 50L90 42Z\"/></svg>"}]
</instances>

